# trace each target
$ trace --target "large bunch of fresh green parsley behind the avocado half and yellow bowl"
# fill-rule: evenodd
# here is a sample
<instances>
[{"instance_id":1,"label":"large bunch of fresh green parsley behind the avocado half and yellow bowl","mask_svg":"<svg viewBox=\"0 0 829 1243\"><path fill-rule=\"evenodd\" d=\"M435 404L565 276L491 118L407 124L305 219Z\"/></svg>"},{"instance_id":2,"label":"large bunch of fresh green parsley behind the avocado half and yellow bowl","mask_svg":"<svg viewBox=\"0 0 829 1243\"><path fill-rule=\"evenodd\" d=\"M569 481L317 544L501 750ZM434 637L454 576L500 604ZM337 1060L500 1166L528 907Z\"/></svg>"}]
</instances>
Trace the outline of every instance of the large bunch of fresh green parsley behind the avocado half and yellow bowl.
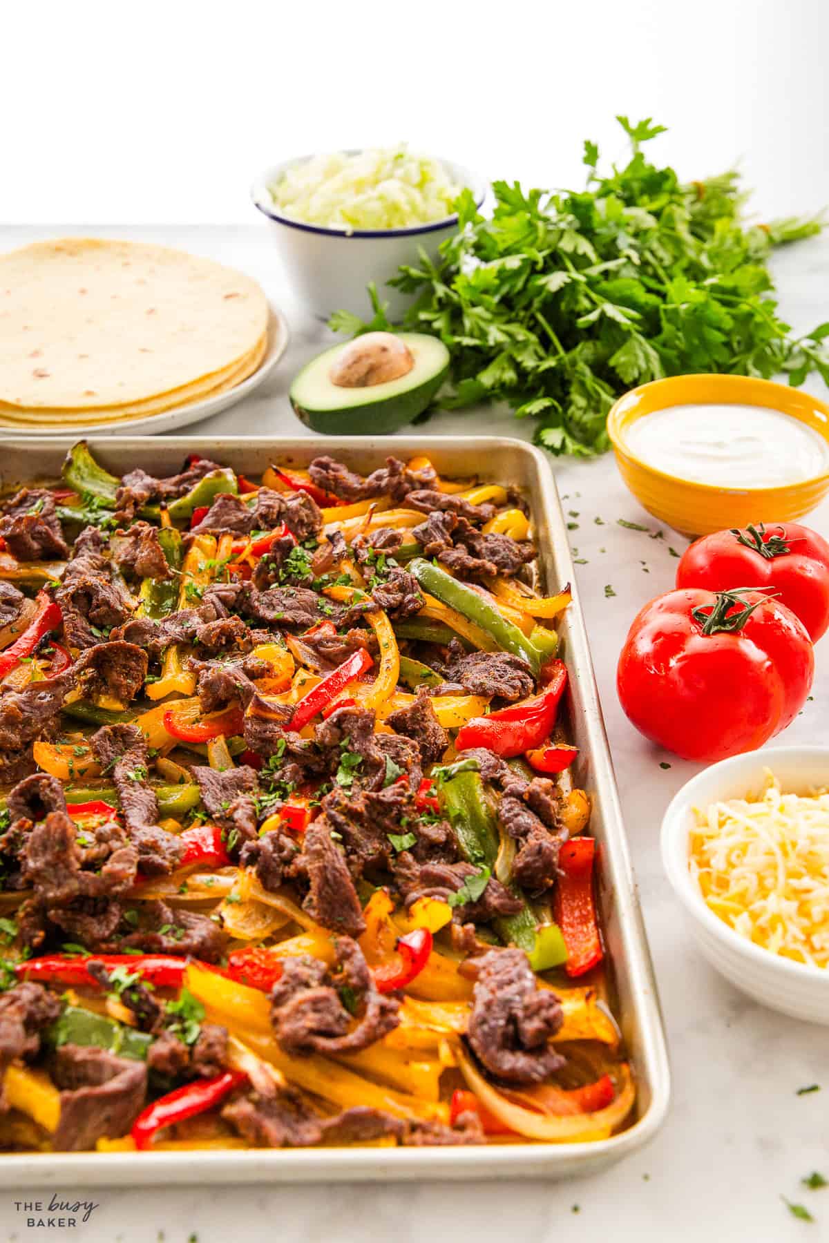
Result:
<instances>
[{"instance_id":1,"label":"large bunch of fresh green parsley behind the avocado half and yellow bowl","mask_svg":"<svg viewBox=\"0 0 829 1243\"><path fill-rule=\"evenodd\" d=\"M736 172L685 185L641 150L664 126L616 119L633 147L624 168L599 173L598 148L585 142L584 190L496 181L492 219L465 190L440 261L421 252L390 282L416 296L404 327L449 347L441 405L507 401L538 420L536 440L554 454L604 451L615 398L662 375L784 372L802 384L817 370L829 383L829 323L793 337L767 266L774 246L818 234L820 220L747 225ZM369 293L370 322L338 312L332 328L390 328Z\"/></svg>"}]
</instances>

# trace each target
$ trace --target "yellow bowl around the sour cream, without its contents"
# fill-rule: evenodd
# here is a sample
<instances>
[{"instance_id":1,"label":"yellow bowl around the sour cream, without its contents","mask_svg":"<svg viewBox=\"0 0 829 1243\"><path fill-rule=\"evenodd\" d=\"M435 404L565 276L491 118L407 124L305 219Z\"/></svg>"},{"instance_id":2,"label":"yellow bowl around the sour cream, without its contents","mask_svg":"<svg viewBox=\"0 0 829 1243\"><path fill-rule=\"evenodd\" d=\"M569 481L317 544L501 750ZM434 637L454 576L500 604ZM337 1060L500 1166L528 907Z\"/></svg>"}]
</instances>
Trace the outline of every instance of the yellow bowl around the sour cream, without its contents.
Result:
<instances>
[{"instance_id":1,"label":"yellow bowl around the sour cream, without its contents","mask_svg":"<svg viewBox=\"0 0 829 1243\"><path fill-rule=\"evenodd\" d=\"M829 491L829 471L785 487L717 487L645 465L630 451L626 430L670 405L763 405L799 419L829 443L829 405L799 389L747 375L675 375L625 393L608 415L608 434L623 480L660 522L686 536L705 536L748 522L792 522Z\"/></svg>"}]
</instances>

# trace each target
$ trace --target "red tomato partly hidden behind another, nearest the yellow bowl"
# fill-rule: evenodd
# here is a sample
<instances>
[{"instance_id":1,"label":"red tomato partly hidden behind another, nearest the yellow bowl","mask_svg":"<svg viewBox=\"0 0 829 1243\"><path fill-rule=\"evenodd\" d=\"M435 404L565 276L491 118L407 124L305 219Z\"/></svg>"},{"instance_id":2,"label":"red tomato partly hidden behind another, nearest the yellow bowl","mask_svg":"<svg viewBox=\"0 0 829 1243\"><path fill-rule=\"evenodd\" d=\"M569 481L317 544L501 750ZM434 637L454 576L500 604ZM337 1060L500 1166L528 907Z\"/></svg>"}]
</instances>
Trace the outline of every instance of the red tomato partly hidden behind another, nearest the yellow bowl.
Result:
<instances>
[{"instance_id":1,"label":"red tomato partly hidden behind another, nearest the yellow bowl","mask_svg":"<svg viewBox=\"0 0 829 1243\"><path fill-rule=\"evenodd\" d=\"M676 567L677 587L726 592L733 583L777 592L813 643L829 628L829 543L809 527L759 522L717 531L686 548Z\"/></svg>"}]
</instances>

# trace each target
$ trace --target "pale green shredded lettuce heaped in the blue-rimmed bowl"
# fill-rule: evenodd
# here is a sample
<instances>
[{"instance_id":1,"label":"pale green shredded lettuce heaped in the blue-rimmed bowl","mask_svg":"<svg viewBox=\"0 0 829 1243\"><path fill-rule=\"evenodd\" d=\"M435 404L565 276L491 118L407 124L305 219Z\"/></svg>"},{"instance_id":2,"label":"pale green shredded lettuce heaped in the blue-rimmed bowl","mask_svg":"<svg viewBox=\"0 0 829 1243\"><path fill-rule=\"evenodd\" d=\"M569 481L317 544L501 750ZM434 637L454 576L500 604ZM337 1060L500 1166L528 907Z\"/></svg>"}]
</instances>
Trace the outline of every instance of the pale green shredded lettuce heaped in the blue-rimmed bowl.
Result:
<instances>
[{"instance_id":1,"label":"pale green shredded lettuce heaped in the blue-rimmed bowl","mask_svg":"<svg viewBox=\"0 0 829 1243\"><path fill-rule=\"evenodd\" d=\"M462 186L437 160L403 145L314 155L268 189L286 216L350 232L442 220L452 215Z\"/></svg>"}]
</instances>

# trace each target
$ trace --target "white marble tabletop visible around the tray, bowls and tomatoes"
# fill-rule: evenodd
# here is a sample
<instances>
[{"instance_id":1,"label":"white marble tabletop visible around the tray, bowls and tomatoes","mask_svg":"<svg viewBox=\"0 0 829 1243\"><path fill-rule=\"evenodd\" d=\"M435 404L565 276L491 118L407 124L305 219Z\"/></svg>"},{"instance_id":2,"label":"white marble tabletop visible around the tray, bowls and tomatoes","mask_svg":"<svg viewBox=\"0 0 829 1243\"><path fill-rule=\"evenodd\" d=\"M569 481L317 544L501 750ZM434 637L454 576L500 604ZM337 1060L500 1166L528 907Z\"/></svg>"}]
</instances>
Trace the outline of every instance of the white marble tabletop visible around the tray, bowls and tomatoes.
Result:
<instances>
[{"instance_id":1,"label":"white marble tabletop visible around the tray, bowls and tomatoes","mask_svg":"<svg viewBox=\"0 0 829 1243\"><path fill-rule=\"evenodd\" d=\"M6 229L10 249L56 229ZM77 230L81 231L81 230ZM323 331L291 306L263 230L170 227L102 230L113 236L165 241L232 262L257 276L288 313L295 337L283 363L255 397L194 433L297 435L286 390L297 365ZM827 318L829 244L807 242L777 261L783 308L795 327ZM817 388L815 392L820 389ZM529 428L492 411L435 416L424 429L528 435ZM399 1243L597 1243L613 1239L672 1243L788 1243L829 1238L829 1188L812 1192L799 1180L813 1170L829 1177L829 1054L827 1029L763 1009L736 992L695 952L662 875L657 838L662 812L694 764L666 757L626 722L614 675L634 613L672 587L685 541L620 527L618 518L657 525L623 487L613 460L553 461L570 521L578 588L587 614L602 702L621 791L628 835L656 966L672 1063L670 1117L649 1150L628 1162L570 1183L389 1185L349 1187L198 1187L114 1191L76 1229L26 1227L15 1208L20 1193L0 1195L0 1238L35 1243L56 1237L83 1243L357 1243L394 1237ZM598 520L602 520L599 523ZM829 503L812 516L829 536ZM605 584L615 590L605 597ZM829 644L829 640L827 640ZM787 742L824 738L829 726L829 646L818 650L814 700ZM667 761L671 767L660 768ZM812 1083L823 1091L798 1096ZM48 1188L44 1195L48 1198ZM80 1192L78 1192L80 1193ZM26 1192L27 1198L35 1193ZM814 1224L795 1221L781 1196L805 1203ZM577 1211L578 1207L578 1211Z\"/></svg>"}]
</instances>

